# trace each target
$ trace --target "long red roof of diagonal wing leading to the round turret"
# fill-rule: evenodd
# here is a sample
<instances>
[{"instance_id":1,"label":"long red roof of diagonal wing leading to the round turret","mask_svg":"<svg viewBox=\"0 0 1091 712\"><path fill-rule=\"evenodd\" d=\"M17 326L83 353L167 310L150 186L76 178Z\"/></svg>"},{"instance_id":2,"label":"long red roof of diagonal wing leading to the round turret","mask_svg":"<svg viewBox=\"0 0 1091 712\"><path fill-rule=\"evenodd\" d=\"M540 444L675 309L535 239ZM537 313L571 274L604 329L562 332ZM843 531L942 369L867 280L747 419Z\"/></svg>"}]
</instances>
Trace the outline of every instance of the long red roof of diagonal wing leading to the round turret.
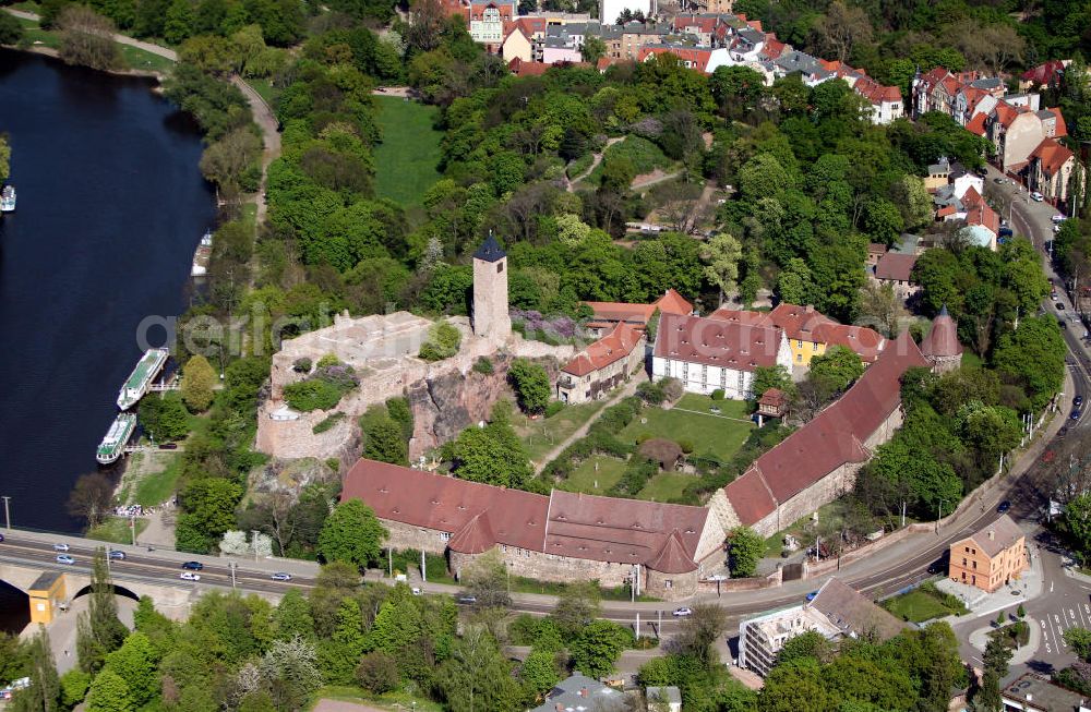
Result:
<instances>
[{"instance_id":1,"label":"long red roof of diagonal wing leading to the round turret","mask_svg":"<svg viewBox=\"0 0 1091 712\"><path fill-rule=\"evenodd\" d=\"M742 523L757 522L842 464L865 461L863 443L901 405L901 375L926 365L908 333L895 339L837 402L724 487Z\"/></svg>"}]
</instances>

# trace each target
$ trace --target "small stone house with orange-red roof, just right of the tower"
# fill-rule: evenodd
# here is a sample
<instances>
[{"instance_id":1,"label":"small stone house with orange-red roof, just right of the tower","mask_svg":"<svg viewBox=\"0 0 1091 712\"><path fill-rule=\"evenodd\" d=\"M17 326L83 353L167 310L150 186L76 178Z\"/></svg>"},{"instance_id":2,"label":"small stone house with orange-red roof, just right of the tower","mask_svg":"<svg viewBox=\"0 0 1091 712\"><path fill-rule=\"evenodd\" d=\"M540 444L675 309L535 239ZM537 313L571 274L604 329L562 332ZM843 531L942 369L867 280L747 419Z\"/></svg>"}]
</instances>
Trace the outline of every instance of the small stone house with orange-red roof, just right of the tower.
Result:
<instances>
[{"instance_id":1,"label":"small stone house with orange-red roof, just right of the tower","mask_svg":"<svg viewBox=\"0 0 1091 712\"><path fill-rule=\"evenodd\" d=\"M643 329L618 322L608 335L561 367L558 399L566 403L595 400L628 381L644 363L645 342Z\"/></svg>"}]
</instances>

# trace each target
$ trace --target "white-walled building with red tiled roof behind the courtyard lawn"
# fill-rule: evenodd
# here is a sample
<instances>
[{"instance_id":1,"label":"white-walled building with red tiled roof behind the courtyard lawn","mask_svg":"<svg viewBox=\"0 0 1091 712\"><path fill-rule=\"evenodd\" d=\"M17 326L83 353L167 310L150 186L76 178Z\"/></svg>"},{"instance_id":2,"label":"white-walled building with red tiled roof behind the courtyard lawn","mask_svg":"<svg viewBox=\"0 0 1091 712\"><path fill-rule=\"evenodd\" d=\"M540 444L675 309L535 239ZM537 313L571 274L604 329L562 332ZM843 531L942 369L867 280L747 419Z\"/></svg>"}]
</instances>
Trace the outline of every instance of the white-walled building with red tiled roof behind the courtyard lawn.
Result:
<instances>
[{"instance_id":1,"label":"white-walled building with red tiled roof behind the courtyard lawn","mask_svg":"<svg viewBox=\"0 0 1091 712\"><path fill-rule=\"evenodd\" d=\"M663 314L656 331L651 375L678 378L692 393L723 390L726 398L746 400L754 393L755 369L790 367L791 359L779 328Z\"/></svg>"}]
</instances>

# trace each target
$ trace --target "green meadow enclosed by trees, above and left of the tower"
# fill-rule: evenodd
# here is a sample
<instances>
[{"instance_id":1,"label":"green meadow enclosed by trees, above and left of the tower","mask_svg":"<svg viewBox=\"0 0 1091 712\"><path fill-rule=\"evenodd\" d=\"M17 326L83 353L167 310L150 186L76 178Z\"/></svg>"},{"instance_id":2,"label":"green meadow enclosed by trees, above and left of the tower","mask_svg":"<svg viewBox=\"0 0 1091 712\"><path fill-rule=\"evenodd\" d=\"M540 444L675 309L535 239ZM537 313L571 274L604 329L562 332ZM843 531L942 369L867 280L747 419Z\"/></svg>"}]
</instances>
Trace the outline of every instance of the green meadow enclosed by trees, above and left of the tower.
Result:
<instances>
[{"instance_id":1,"label":"green meadow enclosed by trees, above and left of the tower","mask_svg":"<svg viewBox=\"0 0 1091 712\"><path fill-rule=\"evenodd\" d=\"M440 132L432 128L436 108L394 96L377 96L375 117L383 143L375 147L375 193L405 206L420 205L440 180Z\"/></svg>"}]
</instances>

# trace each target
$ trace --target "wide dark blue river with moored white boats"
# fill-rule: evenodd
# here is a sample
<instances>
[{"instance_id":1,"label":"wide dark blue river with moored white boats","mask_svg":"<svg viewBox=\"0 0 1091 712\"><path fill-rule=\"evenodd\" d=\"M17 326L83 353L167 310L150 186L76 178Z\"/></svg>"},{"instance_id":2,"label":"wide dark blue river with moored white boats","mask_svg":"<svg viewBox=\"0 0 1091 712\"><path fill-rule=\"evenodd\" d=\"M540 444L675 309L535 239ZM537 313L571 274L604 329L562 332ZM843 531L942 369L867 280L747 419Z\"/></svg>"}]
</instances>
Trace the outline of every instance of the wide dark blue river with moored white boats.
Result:
<instances>
[{"instance_id":1,"label":"wide dark blue river with moored white boats","mask_svg":"<svg viewBox=\"0 0 1091 712\"><path fill-rule=\"evenodd\" d=\"M68 495L97 467L139 326L187 309L215 219L201 135L152 86L0 49L19 191L0 219L0 495L17 527L79 531Z\"/></svg>"}]
</instances>

